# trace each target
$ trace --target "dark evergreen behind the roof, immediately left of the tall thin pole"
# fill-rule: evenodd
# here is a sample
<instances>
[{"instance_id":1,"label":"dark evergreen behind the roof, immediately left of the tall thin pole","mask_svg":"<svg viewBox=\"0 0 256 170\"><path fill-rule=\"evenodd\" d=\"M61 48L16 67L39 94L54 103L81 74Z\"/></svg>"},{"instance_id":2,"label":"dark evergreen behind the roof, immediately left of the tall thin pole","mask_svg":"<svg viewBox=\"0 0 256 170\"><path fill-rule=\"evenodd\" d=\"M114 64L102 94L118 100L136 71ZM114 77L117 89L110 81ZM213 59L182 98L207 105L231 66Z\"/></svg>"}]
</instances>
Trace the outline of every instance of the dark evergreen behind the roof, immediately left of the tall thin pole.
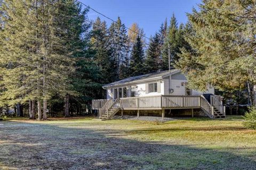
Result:
<instances>
[{"instance_id":1,"label":"dark evergreen behind the roof, immediately left of the tall thin pole","mask_svg":"<svg viewBox=\"0 0 256 170\"><path fill-rule=\"evenodd\" d=\"M145 69L147 73L156 72L161 69L161 37L159 33L150 39L147 50L147 58L145 61Z\"/></svg>"}]
</instances>

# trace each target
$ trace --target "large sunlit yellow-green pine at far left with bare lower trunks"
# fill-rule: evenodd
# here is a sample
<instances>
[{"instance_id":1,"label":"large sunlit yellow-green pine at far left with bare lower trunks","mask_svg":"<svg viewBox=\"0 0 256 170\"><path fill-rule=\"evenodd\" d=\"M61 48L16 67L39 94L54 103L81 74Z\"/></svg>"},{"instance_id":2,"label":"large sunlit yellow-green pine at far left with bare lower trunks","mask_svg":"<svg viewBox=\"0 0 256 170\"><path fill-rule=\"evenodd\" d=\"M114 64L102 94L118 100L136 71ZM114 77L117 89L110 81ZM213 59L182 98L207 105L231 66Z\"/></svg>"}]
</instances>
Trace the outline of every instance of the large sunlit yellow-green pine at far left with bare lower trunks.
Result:
<instances>
[{"instance_id":1,"label":"large sunlit yellow-green pine at far left with bare lower trunks","mask_svg":"<svg viewBox=\"0 0 256 170\"><path fill-rule=\"evenodd\" d=\"M61 4L51 3L6 1L3 5L1 40L6 48L0 49L1 97L10 105L37 100L38 119L42 118L42 101L46 119L47 100L56 93L70 91L68 75L74 71L74 60L67 53L68 43L73 39L69 36L71 29L65 24L67 18L60 16L59 8L54 6Z\"/></svg>"}]
</instances>

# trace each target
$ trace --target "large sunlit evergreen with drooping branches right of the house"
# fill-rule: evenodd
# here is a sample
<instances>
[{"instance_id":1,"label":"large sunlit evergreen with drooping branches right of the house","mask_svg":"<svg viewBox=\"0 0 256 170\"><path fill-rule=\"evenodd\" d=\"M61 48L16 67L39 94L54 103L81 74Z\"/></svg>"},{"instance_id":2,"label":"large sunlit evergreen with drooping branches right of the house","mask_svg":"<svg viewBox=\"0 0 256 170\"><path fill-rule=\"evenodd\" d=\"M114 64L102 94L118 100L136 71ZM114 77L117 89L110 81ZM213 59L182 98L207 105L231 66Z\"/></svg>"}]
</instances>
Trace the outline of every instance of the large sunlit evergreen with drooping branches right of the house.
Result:
<instances>
[{"instance_id":1,"label":"large sunlit evergreen with drooping branches right of the house","mask_svg":"<svg viewBox=\"0 0 256 170\"><path fill-rule=\"evenodd\" d=\"M186 40L192 49L182 49L177 63L189 86L234 91L255 84L255 2L203 1L199 7L188 15Z\"/></svg>"}]
</instances>

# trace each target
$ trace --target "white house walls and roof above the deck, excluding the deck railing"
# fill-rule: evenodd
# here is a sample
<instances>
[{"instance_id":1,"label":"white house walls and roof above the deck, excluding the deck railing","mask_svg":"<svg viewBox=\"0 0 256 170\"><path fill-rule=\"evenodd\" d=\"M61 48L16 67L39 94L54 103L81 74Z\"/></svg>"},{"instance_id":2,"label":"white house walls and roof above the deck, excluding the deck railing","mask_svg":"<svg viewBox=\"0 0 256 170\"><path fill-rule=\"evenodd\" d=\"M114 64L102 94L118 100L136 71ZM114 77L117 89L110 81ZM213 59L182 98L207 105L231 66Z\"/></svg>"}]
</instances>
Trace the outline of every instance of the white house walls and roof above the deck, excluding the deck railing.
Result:
<instances>
[{"instance_id":1,"label":"white house walls and roof above the deck, excluding the deck railing","mask_svg":"<svg viewBox=\"0 0 256 170\"><path fill-rule=\"evenodd\" d=\"M107 90L107 99L156 95L214 95L214 87L209 86L207 91L201 92L189 89L187 84L185 75L173 69L119 80L106 84L103 89Z\"/></svg>"}]
</instances>

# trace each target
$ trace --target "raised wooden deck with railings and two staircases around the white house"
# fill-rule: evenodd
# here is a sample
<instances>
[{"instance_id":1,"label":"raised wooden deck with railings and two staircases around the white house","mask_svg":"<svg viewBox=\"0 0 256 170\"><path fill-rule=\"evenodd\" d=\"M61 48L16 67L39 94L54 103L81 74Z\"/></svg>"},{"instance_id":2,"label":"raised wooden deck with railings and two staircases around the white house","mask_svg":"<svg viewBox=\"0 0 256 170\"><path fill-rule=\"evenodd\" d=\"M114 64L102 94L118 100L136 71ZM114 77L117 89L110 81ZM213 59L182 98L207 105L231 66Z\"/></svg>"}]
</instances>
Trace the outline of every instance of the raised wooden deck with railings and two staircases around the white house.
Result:
<instances>
[{"instance_id":1,"label":"raised wooden deck with railings and two staircases around the white house","mask_svg":"<svg viewBox=\"0 0 256 170\"><path fill-rule=\"evenodd\" d=\"M209 103L204 96L145 96L113 99L92 100L92 108L99 109L99 117L107 120L121 110L164 110L201 108L210 118L225 117L225 106L220 96L211 96Z\"/></svg>"}]
</instances>

